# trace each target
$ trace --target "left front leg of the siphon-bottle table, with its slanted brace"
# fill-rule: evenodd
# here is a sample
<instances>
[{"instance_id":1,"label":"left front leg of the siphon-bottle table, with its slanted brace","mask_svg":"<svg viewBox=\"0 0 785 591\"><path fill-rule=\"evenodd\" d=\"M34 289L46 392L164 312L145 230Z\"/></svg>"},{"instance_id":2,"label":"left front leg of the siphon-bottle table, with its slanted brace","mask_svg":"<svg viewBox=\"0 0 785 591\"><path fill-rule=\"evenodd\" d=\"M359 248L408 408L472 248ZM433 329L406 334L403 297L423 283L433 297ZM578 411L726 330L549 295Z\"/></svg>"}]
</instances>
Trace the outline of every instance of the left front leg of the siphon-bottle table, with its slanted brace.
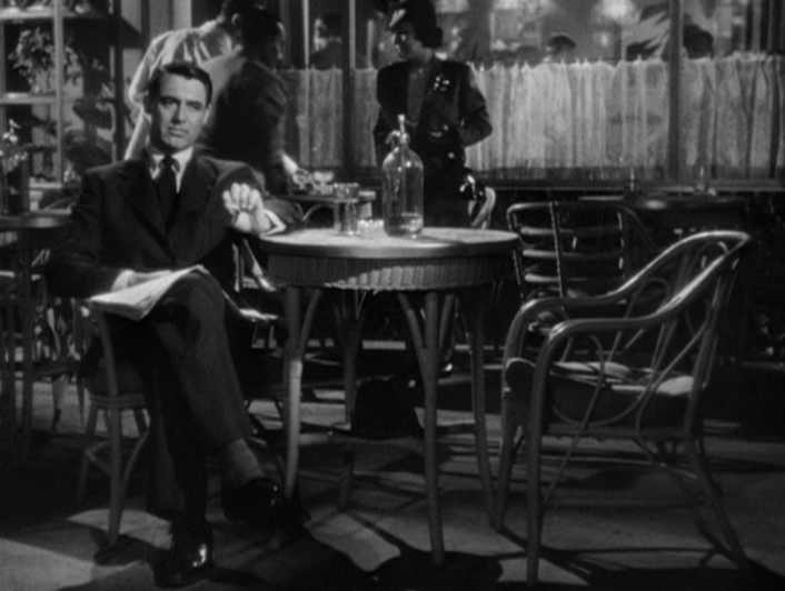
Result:
<instances>
[{"instance_id":1,"label":"left front leg of the siphon-bottle table, with its slanted brace","mask_svg":"<svg viewBox=\"0 0 785 591\"><path fill-rule=\"evenodd\" d=\"M315 290L306 314L300 322L300 288L286 289L286 320L289 334L286 342L285 379L287 400L284 405L286 429L286 469L284 493L291 499L297 485L300 441L300 399L302 395L302 355L308 344L308 335L314 323L314 312L321 298L321 290Z\"/></svg>"}]
</instances>

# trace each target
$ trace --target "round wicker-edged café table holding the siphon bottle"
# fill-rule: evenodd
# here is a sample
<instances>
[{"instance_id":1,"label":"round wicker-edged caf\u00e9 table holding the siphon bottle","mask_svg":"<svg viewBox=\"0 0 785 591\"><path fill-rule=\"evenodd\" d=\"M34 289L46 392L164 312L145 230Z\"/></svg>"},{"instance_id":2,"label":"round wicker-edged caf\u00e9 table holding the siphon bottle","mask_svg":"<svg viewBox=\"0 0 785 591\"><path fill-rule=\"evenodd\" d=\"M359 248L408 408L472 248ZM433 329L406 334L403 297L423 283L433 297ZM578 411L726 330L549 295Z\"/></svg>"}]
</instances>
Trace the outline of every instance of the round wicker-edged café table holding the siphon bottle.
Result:
<instances>
[{"instance_id":1,"label":"round wicker-edged caf\u00e9 table holding the siphon bottle","mask_svg":"<svg viewBox=\"0 0 785 591\"><path fill-rule=\"evenodd\" d=\"M285 490L295 490L300 442L302 357L316 307L325 290L354 296L344 299L338 327L342 348L346 412L350 424L356 397L356 358L361 342L365 298L392 292L406 317L425 393L425 485L431 558L444 561L436 458L437 379L440 343L451 322L455 300L467 319L471 360L471 402L477 464L484 501L493 515L490 468L485 424L483 321L488 292L511 263L516 236L494 230L425 228L419 237L388 237L380 230L344 236L331 229L307 229L261 238L271 279L286 287L288 400ZM310 293L305 313L301 296ZM423 310L416 304L423 296ZM346 305L346 303L349 305Z\"/></svg>"}]
</instances>

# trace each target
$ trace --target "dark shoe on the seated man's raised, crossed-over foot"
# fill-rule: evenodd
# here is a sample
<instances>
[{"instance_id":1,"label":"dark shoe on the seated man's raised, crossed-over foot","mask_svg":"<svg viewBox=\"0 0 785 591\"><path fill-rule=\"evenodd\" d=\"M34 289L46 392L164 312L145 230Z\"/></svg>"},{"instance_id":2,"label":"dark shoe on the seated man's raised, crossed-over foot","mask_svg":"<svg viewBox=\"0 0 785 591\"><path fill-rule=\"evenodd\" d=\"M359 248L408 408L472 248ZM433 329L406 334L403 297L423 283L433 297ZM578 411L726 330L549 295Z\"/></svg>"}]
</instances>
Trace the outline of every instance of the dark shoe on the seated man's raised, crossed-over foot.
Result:
<instances>
[{"instance_id":1,"label":"dark shoe on the seated man's raised, crossed-over foot","mask_svg":"<svg viewBox=\"0 0 785 591\"><path fill-rule=\"evenodd\" d=\"M299 503L287 501L280 487L266 478L255 478L236 489L223 487L221 507L230 521L264 529L289 525L302 519Z\"/></svg>"}]
</instances>

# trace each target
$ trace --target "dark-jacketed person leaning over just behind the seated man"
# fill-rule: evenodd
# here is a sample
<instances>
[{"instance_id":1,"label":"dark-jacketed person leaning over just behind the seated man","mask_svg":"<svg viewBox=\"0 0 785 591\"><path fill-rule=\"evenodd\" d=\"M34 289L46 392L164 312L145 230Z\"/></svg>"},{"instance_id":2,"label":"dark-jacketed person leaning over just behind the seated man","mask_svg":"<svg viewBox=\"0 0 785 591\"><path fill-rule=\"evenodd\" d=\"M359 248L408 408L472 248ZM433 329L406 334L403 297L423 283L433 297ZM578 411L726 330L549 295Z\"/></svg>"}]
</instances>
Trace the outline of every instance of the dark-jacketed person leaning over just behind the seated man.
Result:
<instances>
[{"instance_id":1,"label":"dark-jacketed person leaning over just behind the seated man","mask_svg":"<svg viewBox=\"0 0 785 591\"><path fill-rule=\"evenodd\" d=\"M205 70L216 82L212 114L200 149L246 162L265 177L274 194L308 182L309 174L284 152L287 90L276 72L282 58L284 26L268 9L256 7L240 22L242 50L216 58Z\"/></svg>"}]
</instances>

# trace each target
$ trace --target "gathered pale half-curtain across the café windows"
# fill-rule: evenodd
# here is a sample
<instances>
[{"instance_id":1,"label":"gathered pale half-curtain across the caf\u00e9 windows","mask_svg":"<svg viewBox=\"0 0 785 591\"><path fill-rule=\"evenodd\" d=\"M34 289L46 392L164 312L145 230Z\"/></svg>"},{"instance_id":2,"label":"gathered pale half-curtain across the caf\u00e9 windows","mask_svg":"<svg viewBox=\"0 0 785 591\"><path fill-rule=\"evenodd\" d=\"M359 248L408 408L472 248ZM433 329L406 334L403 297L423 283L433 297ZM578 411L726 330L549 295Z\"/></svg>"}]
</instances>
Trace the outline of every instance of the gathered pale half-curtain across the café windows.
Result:
<instances>
[{"instance_id":1,"label":"gathered pale half-curtain across the caf\u00e9 windows","mask_svg":"<svg viewBox=\"0 0 785 591\"><path fill-rule=\"evenodd\" d=\"M635 167L662 178L667 166L668 70L660 60L617 64L500 66L476 72L494 124L468 151L469 166L504 179L580 169L613 178ZM340 168L341 71L297 70L288 149L310 169ZM376 71L355 72L355 162L376 166ZM680 159L723 178L767 178L785 169L785 59L763 54L687 60L682 77Z\"/></svg>"}]
</instances>

